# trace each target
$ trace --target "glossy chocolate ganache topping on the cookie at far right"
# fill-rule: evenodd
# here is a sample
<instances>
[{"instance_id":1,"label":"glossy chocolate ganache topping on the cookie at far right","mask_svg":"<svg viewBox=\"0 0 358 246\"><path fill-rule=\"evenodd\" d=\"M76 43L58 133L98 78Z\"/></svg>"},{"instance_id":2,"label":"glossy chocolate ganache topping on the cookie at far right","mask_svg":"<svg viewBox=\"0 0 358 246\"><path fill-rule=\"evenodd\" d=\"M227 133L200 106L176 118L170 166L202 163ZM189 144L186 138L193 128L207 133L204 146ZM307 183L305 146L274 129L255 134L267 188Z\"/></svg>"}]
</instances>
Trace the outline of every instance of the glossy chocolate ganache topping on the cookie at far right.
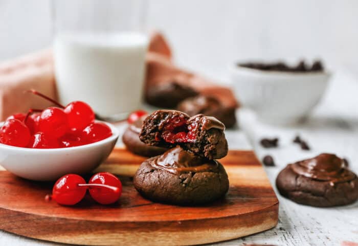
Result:
<instances>
[{"instance_id":1,"label":"glossy chocolate ganache topping on the cookie at far right","mask_svg":"<svg viewBox=\"0 0 358 246\"><path fill-rule=\"evenodd\" d=\"M344 160L335 154L323 153L315 158L290 164L290 167L297 174L332 184L348 182L356 178L353 172L345 168Z\"/></svg>"}]
</instances>

